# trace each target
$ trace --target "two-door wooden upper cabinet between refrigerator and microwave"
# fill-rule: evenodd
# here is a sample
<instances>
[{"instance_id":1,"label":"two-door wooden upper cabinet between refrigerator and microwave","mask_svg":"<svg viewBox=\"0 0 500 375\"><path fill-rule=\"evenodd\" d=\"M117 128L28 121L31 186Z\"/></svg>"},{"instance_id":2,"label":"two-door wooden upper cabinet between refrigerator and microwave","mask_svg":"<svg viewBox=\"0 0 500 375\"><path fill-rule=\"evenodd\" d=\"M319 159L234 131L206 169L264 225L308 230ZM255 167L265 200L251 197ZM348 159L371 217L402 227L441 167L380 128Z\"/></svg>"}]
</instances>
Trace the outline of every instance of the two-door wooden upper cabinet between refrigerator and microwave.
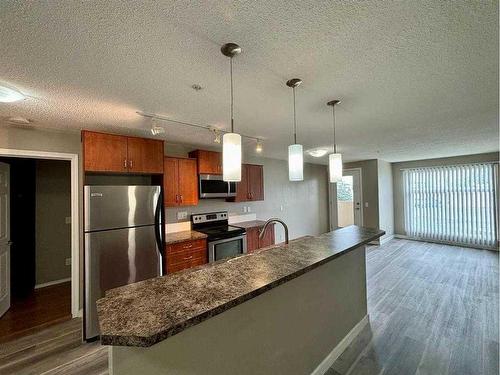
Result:
<instances>
[{"instance_id":1,"label":"two-door wooden upper cabinet between refrigerator and microwave","mask_svg":"<svg viewBox=\"0 0 500 375\"><path fill-rule=\"evenodd\" d=\"M166 157L163 166L165 206L196 206L198 204L196 160Z\"/></svg>"}]
</instances>

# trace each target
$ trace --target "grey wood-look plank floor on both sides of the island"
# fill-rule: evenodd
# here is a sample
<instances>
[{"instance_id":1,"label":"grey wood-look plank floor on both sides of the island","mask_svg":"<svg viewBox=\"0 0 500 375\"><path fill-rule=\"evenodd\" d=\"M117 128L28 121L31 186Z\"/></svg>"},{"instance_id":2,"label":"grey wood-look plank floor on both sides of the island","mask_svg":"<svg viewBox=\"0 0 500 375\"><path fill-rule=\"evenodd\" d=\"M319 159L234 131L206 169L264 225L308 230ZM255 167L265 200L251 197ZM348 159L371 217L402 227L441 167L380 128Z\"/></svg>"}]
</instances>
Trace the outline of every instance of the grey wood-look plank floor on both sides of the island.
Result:
<instances>
[{"instance_id":1,"label":"grey wood-look plank floor on both sides of the island","mask_svg":"<svg viewBox=\"0 0 500 375\"><path fill-rule=\"evenodd\" d=\"M498 374L498 253L392 240L366 258L370 324L327 375ZM0 374L108 374L81 324L0 344Z\"/></svg>"}]
</instances>

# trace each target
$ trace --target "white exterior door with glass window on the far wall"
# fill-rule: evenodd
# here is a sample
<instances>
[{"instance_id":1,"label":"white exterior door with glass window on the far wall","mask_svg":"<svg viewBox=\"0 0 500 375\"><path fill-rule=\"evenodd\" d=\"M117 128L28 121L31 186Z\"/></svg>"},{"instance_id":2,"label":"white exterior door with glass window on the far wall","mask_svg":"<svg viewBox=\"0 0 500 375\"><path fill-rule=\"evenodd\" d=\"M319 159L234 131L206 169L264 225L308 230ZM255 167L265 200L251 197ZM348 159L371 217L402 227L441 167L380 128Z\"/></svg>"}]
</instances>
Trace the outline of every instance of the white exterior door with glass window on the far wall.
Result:
<instances>
[{"instance_id":1,"label":"white exterior door with glass window on the far wall","mask_svg":"<svg viewBox=\"0 0 500 375\"><path fill-rule=\"evenodd\" d=\"M361 169L345 169L342 181L330 184L331 229L363 225Z\"/></svg>"}]
</instances>

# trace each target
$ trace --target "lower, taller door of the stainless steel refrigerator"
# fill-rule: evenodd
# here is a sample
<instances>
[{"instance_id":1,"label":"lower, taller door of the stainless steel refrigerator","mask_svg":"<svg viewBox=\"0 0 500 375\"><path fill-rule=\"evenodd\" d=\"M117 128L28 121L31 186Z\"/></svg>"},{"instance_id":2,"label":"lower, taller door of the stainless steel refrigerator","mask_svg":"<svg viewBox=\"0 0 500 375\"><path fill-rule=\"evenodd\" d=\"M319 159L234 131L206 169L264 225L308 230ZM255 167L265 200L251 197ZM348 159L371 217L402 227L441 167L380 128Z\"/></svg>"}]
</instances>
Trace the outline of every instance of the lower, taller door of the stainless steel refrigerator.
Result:
<instances>
[{"instance_id":1,"label":"lower, taller door of the stainless steel refrigerator","mask_svg":"<svg viewBox=\"0 0 500 375\"><path fill-rule=\"evenodd\" d=\"M154 226L85 233L85 338L99 335L96 301L105 291L160 272Z\"/></svg>"}]
</instances>

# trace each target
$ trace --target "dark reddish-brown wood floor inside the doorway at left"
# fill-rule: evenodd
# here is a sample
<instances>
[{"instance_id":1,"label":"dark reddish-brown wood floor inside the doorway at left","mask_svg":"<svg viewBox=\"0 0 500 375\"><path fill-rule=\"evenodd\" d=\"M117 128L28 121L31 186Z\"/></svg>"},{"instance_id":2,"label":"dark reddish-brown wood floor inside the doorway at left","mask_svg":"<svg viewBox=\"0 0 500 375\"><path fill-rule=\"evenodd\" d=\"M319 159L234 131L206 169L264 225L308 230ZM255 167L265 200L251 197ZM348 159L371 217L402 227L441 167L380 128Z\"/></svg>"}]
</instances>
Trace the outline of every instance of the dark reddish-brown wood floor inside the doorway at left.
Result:
<instances>
[{"instance_id":1,"label":"dark reddish-brown wood floor inside the doorway at left","mask_svg":"<svg viewBox=\"0 0 500 375\"><path fill-rule=\"evenodd\" d=\"M0 318L0 343L71 319L71 282L35 289L14 299Z\"/></svg>"}]
</instances>

